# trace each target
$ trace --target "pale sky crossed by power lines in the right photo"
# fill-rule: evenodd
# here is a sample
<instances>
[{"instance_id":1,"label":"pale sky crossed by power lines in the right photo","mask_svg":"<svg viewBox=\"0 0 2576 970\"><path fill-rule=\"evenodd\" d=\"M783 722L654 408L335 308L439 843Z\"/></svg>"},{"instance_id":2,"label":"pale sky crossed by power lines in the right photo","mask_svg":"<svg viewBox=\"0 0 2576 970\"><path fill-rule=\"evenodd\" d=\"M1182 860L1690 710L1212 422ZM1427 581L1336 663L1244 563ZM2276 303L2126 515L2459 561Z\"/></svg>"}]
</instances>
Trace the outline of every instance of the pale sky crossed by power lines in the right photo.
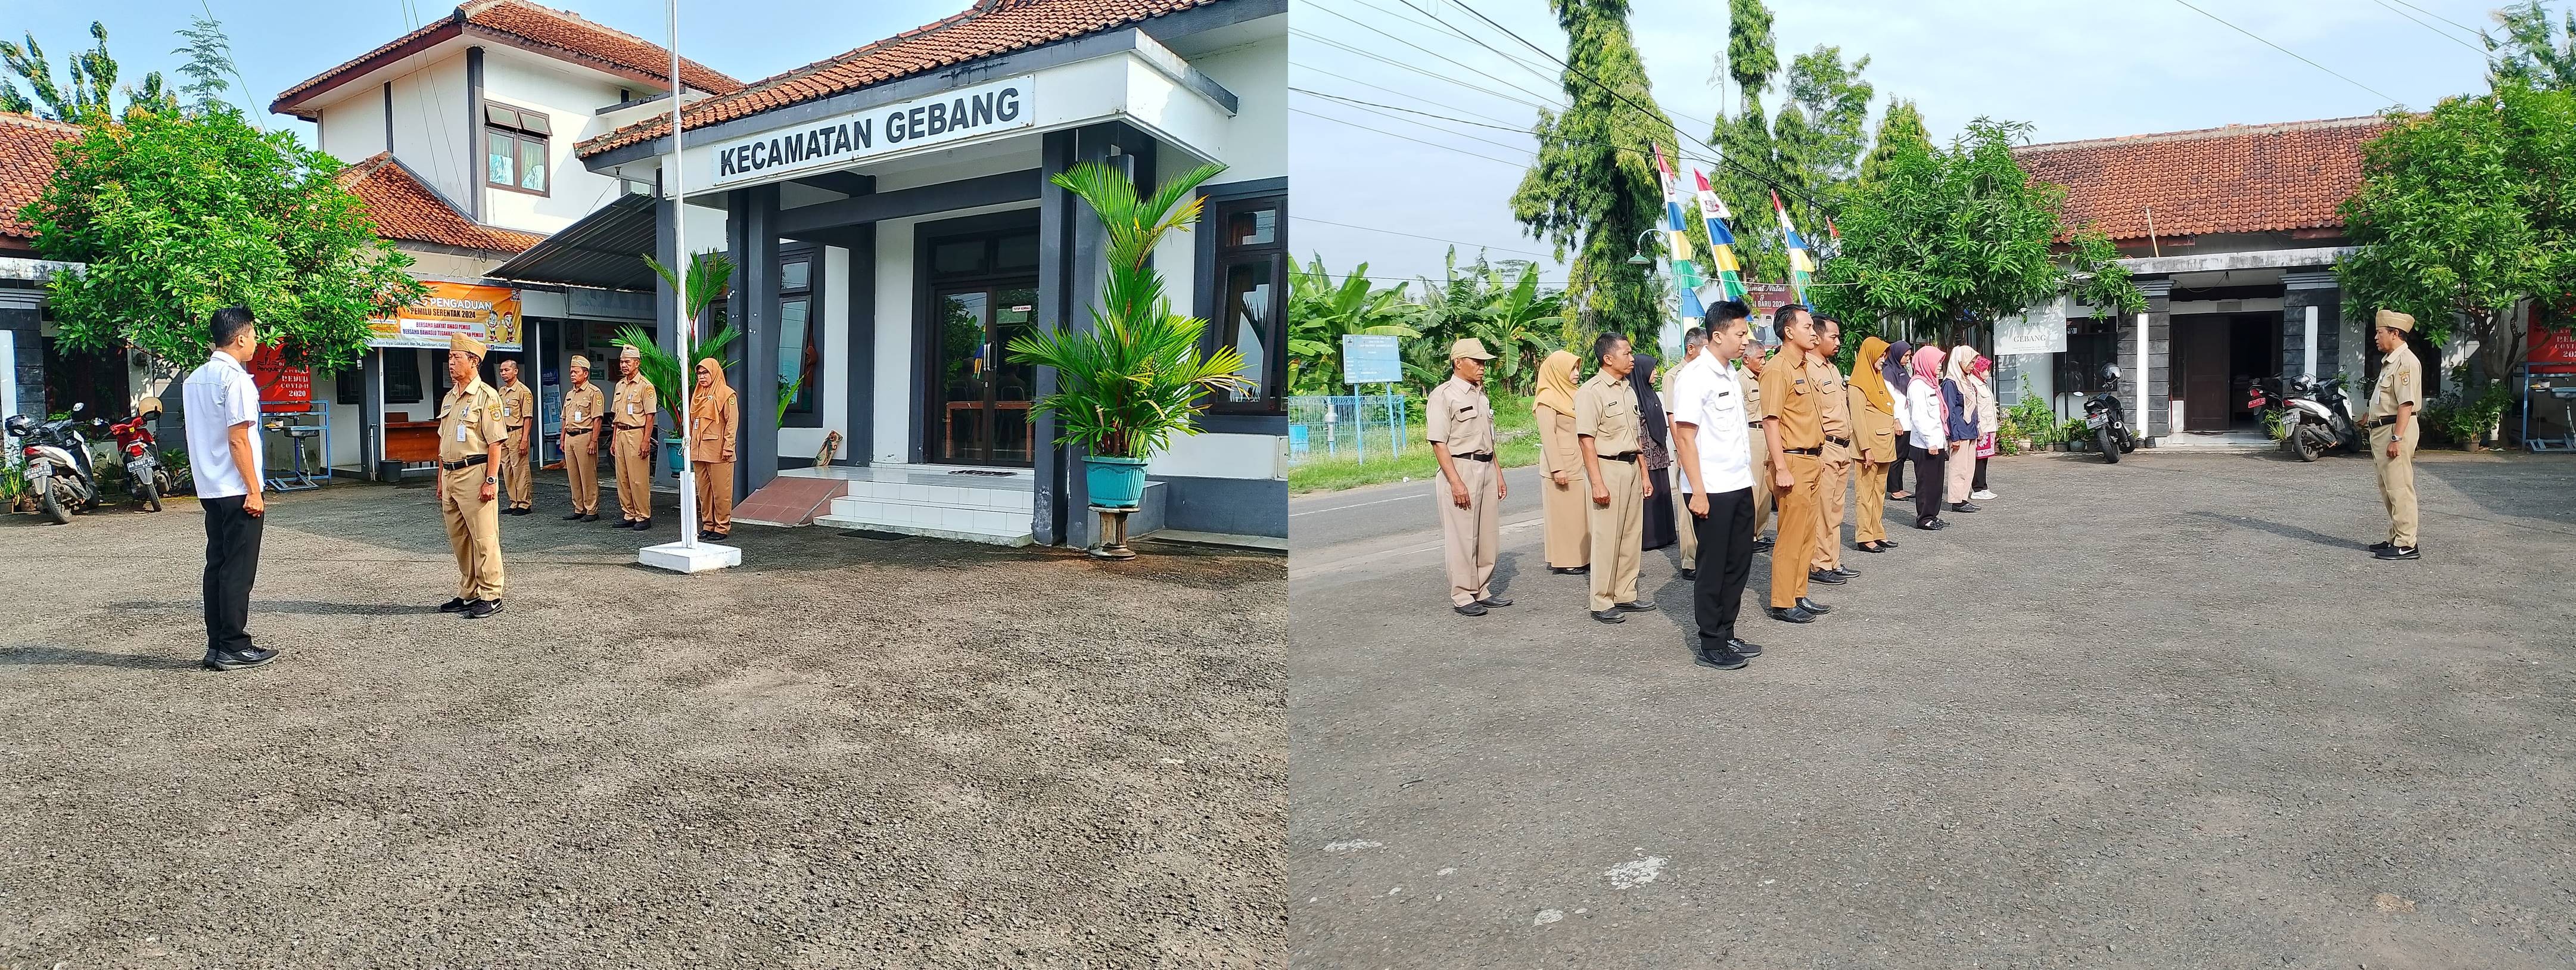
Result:
<instances>
[{"instance_id":1,"label":"pale sky crossed by power lines in the right photo","mask_svg":"<svg viewBox=\"0 0 2576 970\"><path fill-rule=\"evenodd\" d=\"M1886 98L1901 95L1922 105L1935 139L1947 139L1976 116L1994 116L2035 124L2035 142L2342 118L2391 103L2424 108L2442 95L2486 87L2483 51L2463 46L2476 39L2460 26L2491 26L2488 10L2501 3L2192 5L2352 82L2300 64L2179 0L1770 0L1783 67L1816 44L1842 46L1844 59L1870 57L1865 77L1880 95L1873 124ZM2550 8L2563 13L2568 3L2550 0ZM1564 33L1543 0L1293 0L1291 23L1298 36L1288 49L1288 82L1388 108L1525 129L1535 118L1533 100L1561 100L1558 69L1468 10L1564 54ZM1656 103L1685 136L1705 139L1721 105L1734 105L1713 80L1716 54L1726 49L1726 3L1633 0L1631 28ZM1288 118L1298 183L1291 242L1301 260L1319 252L1332 273L1350 273L1352 262L1365 260L1376 278L1437 275L1450 242L1414 239L1437 237L1494 247L1497 260L1533 257L1507 250L1538 250L1546 262L1548 247L1522 234L1510 214L1520 165L1533 152L1528 134L1386 108L1370 113L1314 95L1291 95L1291 105L1303 111ZM1473 247L1461 247L1461 257L1473 257ZM1543 278L1561 280L1564 270L1548 262Z\"/></svg>"}]
</instances>

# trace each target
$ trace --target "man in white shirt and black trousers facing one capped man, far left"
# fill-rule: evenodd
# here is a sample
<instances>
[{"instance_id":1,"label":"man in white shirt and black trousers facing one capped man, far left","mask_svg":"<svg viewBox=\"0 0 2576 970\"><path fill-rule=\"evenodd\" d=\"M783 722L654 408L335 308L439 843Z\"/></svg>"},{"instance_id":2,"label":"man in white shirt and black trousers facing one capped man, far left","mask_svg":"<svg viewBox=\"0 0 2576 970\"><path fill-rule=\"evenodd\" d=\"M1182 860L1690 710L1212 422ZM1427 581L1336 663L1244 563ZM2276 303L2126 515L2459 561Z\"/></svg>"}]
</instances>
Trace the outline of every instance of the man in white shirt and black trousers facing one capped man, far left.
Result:
<instances>
[{"instance_id":1,"label":"man in white shirt and black trousers facing one capped man, far left","mask_svg":"<svg viewBox=\"0 0 2576 970\"><path fill-rule=\"evenodd\" d=\"M260 574L260 386L245 363L260 350L250 309L214 311L214 355L185 383L188 468L206 509L206 666L260 666L278 651L250 643L250 581Z\"/></svg>"}]
</instances>

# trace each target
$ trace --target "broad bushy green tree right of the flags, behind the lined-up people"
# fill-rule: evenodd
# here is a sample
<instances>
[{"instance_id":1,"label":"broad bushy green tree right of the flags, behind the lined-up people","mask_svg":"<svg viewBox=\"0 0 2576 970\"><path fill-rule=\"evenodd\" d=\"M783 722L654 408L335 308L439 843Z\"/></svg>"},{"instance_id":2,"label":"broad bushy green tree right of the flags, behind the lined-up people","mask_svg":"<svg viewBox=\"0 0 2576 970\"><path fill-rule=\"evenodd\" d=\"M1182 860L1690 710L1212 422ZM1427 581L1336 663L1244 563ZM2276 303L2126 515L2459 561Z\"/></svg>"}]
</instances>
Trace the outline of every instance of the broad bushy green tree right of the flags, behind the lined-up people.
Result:
<instances>
[{"instance_id":1,"label":"broad bushy green tree right of the flags, behind the lined-up people","mask_svg":"<svg viewBox=\"0 0 2576 970\"><path fill-rule=\"evenodd\" d=\"M2012 144L2027 131L1976 118L1950 149L1896 142L1880 178L1855 188L1844 208L1842 255L1816 273L1837 283L1819 286L1824 311L1852 334L1909 322L1909 332L1953 345L1968 327L2069 291L2089 306L2143 309L2110 239L2063 226L2066 188L2035 183L2014 162Z\"/></svg>"}]
</instances>

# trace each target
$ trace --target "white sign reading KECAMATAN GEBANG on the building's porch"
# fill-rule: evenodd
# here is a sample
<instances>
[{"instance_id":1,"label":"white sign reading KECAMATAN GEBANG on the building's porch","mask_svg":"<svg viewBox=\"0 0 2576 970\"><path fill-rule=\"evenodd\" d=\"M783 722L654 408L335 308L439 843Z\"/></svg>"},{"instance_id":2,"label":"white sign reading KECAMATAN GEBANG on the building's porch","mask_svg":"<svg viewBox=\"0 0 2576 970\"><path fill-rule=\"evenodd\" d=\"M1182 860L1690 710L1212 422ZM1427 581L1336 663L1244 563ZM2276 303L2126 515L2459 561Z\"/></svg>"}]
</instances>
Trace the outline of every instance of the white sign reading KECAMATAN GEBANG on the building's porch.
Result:
<instances>
[{"instance_id":1,"label":"white sign reading KECAMATAN GEBANG on the building's porch","mask_svg":"<svg viewBox=\"0 0 2576 970\"><path fill-rule=\"evenodd\" d=\"M716 142L714 185L848 167L878 154L1028 129L1030 75Z\"/></svg>"}]
</instances>

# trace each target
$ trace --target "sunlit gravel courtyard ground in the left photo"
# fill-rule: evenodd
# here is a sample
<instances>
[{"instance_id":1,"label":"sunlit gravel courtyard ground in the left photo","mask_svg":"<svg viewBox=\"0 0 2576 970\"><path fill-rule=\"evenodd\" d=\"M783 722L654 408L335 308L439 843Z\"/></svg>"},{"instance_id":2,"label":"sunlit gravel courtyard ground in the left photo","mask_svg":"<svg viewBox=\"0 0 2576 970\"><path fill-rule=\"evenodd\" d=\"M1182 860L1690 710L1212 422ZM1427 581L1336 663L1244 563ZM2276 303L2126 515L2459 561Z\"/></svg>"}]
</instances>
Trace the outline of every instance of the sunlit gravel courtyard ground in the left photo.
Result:
<instances>
[{"instance_id":1,"label":"sunlit gravel courtyard ground in the left photo","mask_svg":"<svg viewBox=\"0 0 2576 970\"><path fill-rule=\"evenodd\" d=\"M1278 556L742 527L675 576L556 481L482 623L428 486L276 497L234 674L193 502L0 517L0 967L1278 960Z\"/></svg>"}]
</instances>

